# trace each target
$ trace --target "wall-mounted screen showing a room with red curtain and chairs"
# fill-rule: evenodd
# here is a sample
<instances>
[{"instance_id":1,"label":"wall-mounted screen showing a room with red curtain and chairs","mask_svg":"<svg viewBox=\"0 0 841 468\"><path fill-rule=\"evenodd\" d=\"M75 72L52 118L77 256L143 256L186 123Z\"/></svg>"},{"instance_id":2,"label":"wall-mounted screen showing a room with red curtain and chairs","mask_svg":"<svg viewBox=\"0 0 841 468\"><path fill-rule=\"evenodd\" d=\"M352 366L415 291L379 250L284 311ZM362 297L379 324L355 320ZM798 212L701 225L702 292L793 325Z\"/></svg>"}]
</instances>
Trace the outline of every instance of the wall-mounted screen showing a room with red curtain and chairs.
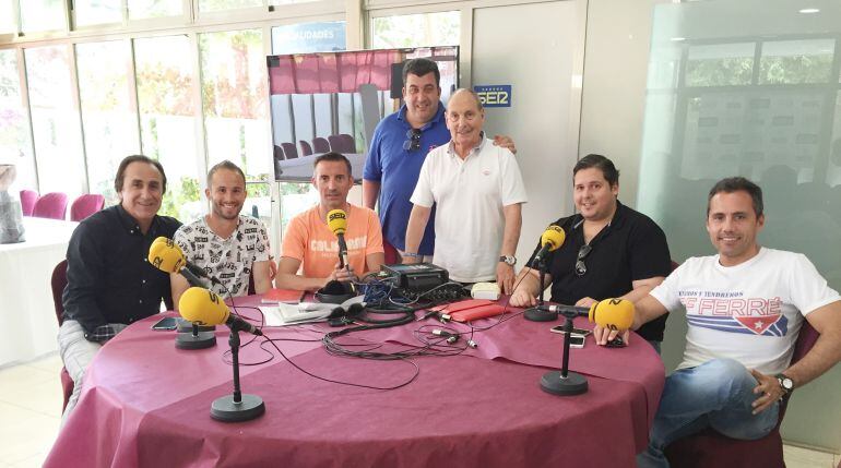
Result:
<instances>
[{"instance_id":1,"label":"wall-mounted screen showing a room with red curtain and chairs","mask_svg":"<svg viewBox=\"0 0 841 468\"><path fill-rule=\"evenodd\" d=\"M446 103L458 84L455 46L269 56L275 180L309 181L315 158L333 151L362 181L374 129L402 104L402 64L419 57L438 63Z\"/></svg>"}]
</instances>

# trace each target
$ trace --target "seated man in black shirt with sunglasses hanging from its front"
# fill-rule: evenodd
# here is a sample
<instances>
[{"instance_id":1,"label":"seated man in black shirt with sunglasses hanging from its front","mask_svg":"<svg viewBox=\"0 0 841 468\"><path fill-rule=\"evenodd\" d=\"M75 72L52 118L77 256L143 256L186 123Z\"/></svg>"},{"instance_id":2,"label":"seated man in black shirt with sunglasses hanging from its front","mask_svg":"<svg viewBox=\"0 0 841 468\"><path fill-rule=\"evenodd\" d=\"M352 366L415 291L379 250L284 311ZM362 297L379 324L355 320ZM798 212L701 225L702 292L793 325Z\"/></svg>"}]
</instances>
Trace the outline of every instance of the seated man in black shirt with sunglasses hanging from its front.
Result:
<instances>
[{"instance_id":1,"label":"seated man in black shirt with sunglasses hanging from its front","mask_svg":"<svg viewBox=\"0 0 841 468\"><path fill-rule=\"evenodd\" d=\"M619 171L601 155L587 155L572 169L573 200L579 214L553 223L567 235L564 244L546 256L546 284L552 301L590 307L621 297L636 301L660 285L672 271L663 230L648 216L617 200ZM535 305L540 273L532 261L511 296L511 305ZM518 278L519 280L519 278ZM666 316L637 331L660 352Z\"/></svg>"}]
</instances>

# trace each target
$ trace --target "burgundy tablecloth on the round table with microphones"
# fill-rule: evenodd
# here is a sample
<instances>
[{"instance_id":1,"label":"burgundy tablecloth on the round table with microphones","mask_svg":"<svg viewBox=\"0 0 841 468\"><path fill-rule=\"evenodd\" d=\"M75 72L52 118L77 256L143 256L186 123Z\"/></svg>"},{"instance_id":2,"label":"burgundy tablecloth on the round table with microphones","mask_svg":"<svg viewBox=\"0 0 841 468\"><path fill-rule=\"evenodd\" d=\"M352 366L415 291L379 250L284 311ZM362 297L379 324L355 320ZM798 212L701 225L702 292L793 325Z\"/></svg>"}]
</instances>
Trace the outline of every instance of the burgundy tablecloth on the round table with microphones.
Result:
<instances>
[{"instance_id":1,"label":"burgundy tablecloth on the round table with microphones","mask_svg":"<svg viewBox=\"0 0 841 468\"><path fill-rule=\"evenodd\" d=\"M589 375L589 392L546 394L538 382L559 367L562 339L550 324L522 317L476 333L479 346L470 353L415 359L416 381L388 392L312 379L257 340L241 362L275 358L242 367L242 391L262 397L266 413L226 424L209 413L232 391L226 331L217 331L217 347L186 351L171 333L150 329L155 320L128 327L97 355L45 466L632 466L664 379L643 340L618 350L590 340L570 359ZM416 345L417 326L354 335ZM265 332L275 339L320 335L315 326ZM317 341L276 343L299 367L333 380L389 386L414 373L403 361L330 356Z\"/></svg>"}]
</instances>

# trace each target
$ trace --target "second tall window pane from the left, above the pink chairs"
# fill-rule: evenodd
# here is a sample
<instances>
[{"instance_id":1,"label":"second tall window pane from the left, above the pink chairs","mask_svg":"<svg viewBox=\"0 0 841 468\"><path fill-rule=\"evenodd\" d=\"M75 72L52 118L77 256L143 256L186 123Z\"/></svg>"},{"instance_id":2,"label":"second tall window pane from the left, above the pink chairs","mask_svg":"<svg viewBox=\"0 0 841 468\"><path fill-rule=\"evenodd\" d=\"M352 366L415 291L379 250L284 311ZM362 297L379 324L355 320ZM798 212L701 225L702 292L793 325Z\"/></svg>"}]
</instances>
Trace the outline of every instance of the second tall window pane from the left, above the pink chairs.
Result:
<instances>
[{"instance_id":1,"label":"second tall window pane from the left, above the pink chairs","mask_svg":"<svg viewBox=\"0 0 841 468\"><path fill-rule=\"evenodd\" d=\"M24 52L40 192L64 192L73 200L84 193L85 175L69 46Z\"/></svg>"}]
</instances>

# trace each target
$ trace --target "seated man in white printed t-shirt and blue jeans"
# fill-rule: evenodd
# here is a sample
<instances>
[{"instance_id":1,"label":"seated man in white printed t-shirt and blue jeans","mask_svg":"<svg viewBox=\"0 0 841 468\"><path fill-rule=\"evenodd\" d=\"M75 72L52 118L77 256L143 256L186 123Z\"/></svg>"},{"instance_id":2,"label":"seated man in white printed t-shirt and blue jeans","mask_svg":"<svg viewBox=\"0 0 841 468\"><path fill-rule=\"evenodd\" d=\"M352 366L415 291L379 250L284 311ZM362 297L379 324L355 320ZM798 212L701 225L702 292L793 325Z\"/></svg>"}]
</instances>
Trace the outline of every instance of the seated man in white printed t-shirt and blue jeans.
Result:
<instances>
[{"instance_id":1,"label":"seated man in white printed t-shirt and blue jeans","mask_svg":"<svg viewBox=\"0 0 841 468\"><path fill-rule=\"evenodd\" d=\"M741 177L719 181L707 207L719 254L687 260L636 303L633 328L680 305L689 325L640 467L667 467L664 448L707 427L733 439L767 435L782 397L841 360L841 297L805 255L760 247L763 225L759 187ZM820 338L790 365L804 316ZM596 340L617 333L596 329Z\"/></svg>"}]
</instances>

